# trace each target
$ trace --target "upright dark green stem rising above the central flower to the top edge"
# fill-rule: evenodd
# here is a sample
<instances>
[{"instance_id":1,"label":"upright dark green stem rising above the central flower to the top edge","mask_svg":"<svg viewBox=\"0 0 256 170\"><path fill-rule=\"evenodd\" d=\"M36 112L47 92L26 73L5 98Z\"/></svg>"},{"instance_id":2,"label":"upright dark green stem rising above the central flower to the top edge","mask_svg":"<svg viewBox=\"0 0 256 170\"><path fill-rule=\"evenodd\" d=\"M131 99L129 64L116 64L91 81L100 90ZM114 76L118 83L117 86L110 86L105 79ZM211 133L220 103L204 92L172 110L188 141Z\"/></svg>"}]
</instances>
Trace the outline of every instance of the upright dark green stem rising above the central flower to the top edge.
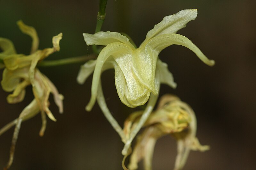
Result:
<instances>
[{"instance_id":1,"label":"upright dark green stem rising above the central flower to the top edge","mask_svg":"<svg viewBox=\"0 0 256 170\"><path fill-rule=\"evenodd\" d=\"M100 0L95 33L99 32L101 30L102 24L103 24L104 19L106 17L105 9L106 9L107 3L108 3L108 0ZM95 54L100 53L100 51L98 50L96 45L92 45L92 50Z\"/></svg>"}]
</instances>

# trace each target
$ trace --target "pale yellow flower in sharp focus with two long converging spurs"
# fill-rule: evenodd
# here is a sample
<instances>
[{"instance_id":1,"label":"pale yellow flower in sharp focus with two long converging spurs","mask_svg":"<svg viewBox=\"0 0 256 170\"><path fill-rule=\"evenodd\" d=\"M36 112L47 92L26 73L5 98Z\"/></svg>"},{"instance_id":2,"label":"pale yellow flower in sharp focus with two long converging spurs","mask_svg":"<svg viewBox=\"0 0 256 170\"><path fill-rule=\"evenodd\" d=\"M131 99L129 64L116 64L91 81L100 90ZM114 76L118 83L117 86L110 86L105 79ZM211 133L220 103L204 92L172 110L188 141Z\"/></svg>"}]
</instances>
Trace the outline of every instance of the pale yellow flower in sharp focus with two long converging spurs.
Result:
<instances>
[{"instance_id":1,"label":"pale yellow flower in sharp focus with two long converging spurs","mask_svg":"<svg viewBox=\"0 0 256 170\"><path fill-rule=\"evenodd\" d=\"M103 45L104 47L97 60L85 63L77 77L77 81L83 84L93 72L92 96L86 110L90 111L96 101L107 117L108 121L117 131L125 143L122 151L127 155L128 149L140 128L152 112L160 84L167 84L172 88L176 87L172 74L166 63L162 62L158 55L166 47L171 45L182 45L192 50L205 64L214 65L199 48L188 38L176 32L184 28L186 24L197 16L196 9L182 10L174 15L166 16L150 30L146 39L139 48L132 45L127 37L116 32L98 32L95 34L84 33L84 41L89 45ZM100 75L104 70L115 69L115 84L120 100L128 107L137 107L145 104L147 107L141 116L137 127L133 129L129 138L126 138L122 128L112 117L106 106L100 83ZM150 96L150 97L149 97Z\"/></svg>"}]
</instances>

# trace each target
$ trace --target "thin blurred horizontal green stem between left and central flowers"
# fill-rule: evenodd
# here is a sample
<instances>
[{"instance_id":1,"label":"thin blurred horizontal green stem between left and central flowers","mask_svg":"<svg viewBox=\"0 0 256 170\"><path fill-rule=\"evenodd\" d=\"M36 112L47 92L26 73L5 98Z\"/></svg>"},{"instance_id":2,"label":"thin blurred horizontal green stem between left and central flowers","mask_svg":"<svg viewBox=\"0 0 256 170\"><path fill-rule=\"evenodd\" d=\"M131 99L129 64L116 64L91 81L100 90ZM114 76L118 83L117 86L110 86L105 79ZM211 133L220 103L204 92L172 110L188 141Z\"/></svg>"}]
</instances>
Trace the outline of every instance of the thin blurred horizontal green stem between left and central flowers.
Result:
<instances>
[{"instance_id":1,"label":"thin blurred horizontal green stem between left and central flowers","mask_svg":"<svg viewBox=\"0 0 256 170\"><path fill-rule=\"evenodd\" d=\"M50 67L50 66L56 66L56 65L80 63L80 62L85 62L92 59L96 59L96 55L83 55L78 57L64 58L60 60L42 61L38 63L37 66Z\"/></svg>"}]
</instances>

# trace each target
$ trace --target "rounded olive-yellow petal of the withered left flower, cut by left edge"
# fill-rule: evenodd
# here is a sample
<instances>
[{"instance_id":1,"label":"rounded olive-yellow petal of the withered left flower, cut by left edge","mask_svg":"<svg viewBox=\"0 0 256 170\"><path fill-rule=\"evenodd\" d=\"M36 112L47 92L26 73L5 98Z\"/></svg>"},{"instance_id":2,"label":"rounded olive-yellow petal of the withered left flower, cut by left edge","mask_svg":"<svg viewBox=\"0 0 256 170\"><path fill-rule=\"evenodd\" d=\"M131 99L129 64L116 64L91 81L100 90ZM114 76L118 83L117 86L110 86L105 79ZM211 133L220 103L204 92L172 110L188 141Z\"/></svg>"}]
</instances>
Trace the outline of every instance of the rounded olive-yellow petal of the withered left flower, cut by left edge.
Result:
<instances>
[{"instance_id":1,"label":"rounded olive-yellow petal of the withered left flower, cut by left edge","mask_svg":"<svg viewBox=\"0 0 256 170\"><path fill-rule=\"evenodd\" d=\"M14 45L9 39L0 37L0 48L3 50L0 53L0 59L4 59L7 55L16 54Z\"/></svg>"}]
</instances>

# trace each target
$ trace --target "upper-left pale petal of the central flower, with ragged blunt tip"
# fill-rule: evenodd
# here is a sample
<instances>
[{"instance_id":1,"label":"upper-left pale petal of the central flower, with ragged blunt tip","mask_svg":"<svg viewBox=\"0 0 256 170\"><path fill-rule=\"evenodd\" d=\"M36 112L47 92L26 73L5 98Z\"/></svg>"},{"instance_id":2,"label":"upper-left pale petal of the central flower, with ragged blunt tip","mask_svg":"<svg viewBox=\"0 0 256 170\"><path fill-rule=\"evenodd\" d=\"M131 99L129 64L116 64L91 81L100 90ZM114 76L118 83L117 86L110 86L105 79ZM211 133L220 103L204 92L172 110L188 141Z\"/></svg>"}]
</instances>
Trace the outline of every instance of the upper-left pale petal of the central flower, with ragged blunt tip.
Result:
<instances>
[{"instance_id":1,"label":"upper-left pale petal of the central flower, with ragged blunt tip","mask_svg":"<svg viewBox=\"0 0 256 170\"><path fill-rule=\"evenodd\" d=\"M103 32L100 31L95 34L88 34L88 33L83 33L84 36L84 41L86 44L89 45L108 45L113 42L122 42L126 44L127 46L134 48L133 45L130 43L129 39L125 37L124 35L116 32Z\"/></svg>"}]
</instances>

